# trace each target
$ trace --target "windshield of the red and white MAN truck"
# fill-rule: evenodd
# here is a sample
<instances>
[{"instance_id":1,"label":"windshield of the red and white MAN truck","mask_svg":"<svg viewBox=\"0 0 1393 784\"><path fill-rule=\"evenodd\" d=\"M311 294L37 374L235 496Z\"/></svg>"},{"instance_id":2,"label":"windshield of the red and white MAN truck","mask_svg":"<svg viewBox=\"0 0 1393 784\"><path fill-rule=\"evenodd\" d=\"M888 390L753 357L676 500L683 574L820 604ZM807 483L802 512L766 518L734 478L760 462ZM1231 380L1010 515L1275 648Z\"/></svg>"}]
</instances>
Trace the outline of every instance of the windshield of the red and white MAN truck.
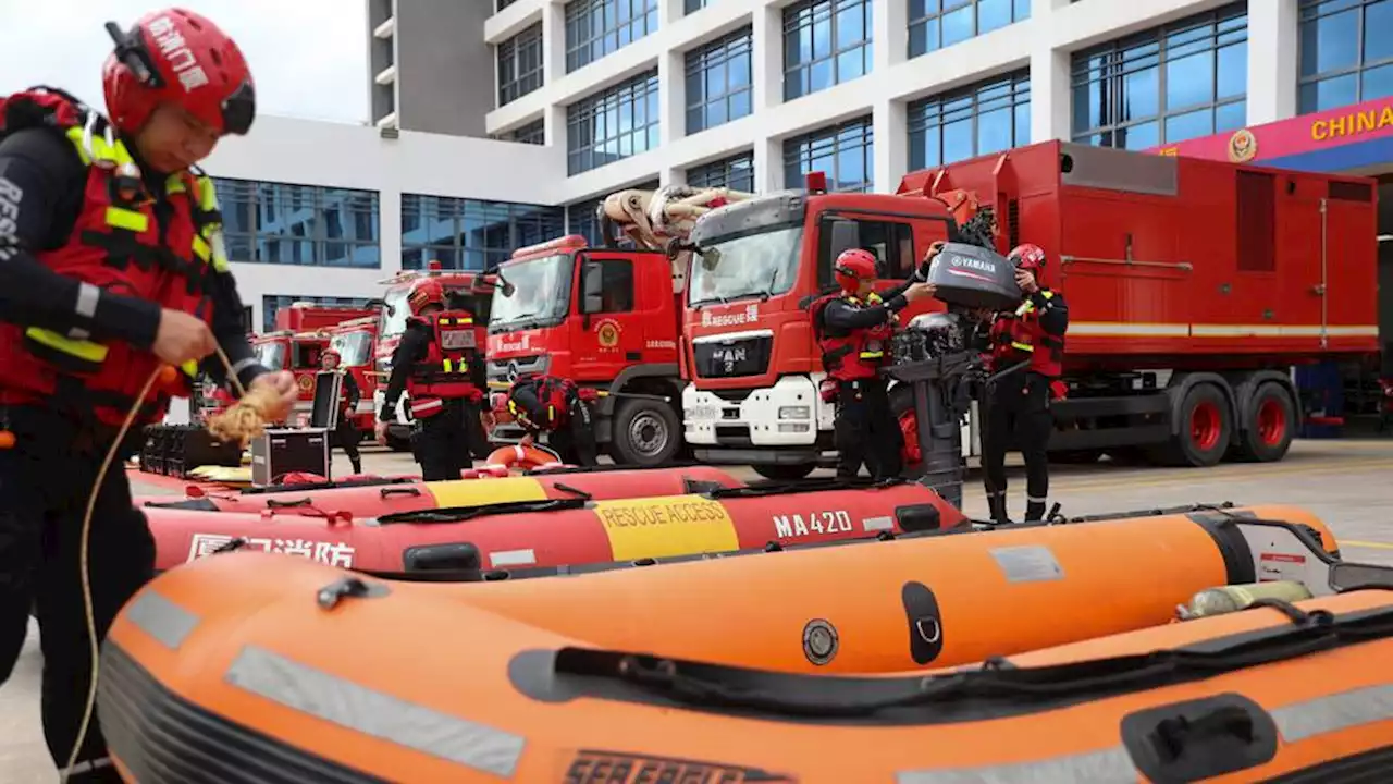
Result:
<instances>
[{"instance_id":1,"label":"windshield of the red and white MAN truck","mask_svg":"<svg viewBox=\"0 0 1393 784\"><path fill-rule=\"evenodd\" d=\"M687 304L783 294L798 278L801 247L802 226L703 244L703 254L692 258Z\"/></svg>"}]
</instances>

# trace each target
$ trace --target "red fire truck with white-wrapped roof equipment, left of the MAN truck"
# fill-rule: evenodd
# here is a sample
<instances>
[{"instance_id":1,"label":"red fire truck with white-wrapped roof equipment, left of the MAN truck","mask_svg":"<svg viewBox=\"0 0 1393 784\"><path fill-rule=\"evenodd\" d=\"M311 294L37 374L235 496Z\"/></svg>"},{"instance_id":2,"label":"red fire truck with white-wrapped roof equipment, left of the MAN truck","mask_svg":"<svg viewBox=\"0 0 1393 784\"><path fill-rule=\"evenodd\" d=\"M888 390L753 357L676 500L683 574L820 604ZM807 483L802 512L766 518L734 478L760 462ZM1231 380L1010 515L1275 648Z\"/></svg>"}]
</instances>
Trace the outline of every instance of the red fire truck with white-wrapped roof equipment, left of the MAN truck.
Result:
<instances>
[{"instance_id":1,"label":"red fire truck with white-wrapped roof equipment, left of the MAN truck","mask_svg":"<svg viewBox=\"0 0 1393 784\"><path fill-rule=\"evenodd\" d=\"M685 240L699 215L744 198L685 186L620 191L600 206L602 226L607 237L621 229L632 247L592 248L573 234L521 248L500 265L489 319L493 437L522 435L507 414L510 384L550 374L600 393L595 439L616 463L677 456L677 336L690 254L673 243Z\"/></svg>"}]
</instances>

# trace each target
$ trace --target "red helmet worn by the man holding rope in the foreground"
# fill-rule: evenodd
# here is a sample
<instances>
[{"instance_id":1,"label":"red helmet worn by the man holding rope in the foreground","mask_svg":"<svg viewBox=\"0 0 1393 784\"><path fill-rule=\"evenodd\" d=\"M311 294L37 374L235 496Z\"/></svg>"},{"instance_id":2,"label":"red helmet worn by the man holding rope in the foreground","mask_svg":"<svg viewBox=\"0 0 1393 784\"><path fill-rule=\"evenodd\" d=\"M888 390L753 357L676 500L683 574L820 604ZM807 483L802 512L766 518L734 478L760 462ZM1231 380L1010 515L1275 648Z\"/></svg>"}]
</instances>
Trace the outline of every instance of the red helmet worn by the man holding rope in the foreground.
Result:
<instances>
[{"instance_id":1,"label":"red helmet worn by the man holding rope in the foreground","mask_svg":"<svg viewBox=\"0 0 1393 784\"><path fill-rule=\"evenodd\" d=\"M162 103L181 106L220 134L245 134L256 88L237 43L192 11L145 14L130 32L107 22L116 50L102 68L111 123L138 131Z\"/></svg>"}]
</instances>

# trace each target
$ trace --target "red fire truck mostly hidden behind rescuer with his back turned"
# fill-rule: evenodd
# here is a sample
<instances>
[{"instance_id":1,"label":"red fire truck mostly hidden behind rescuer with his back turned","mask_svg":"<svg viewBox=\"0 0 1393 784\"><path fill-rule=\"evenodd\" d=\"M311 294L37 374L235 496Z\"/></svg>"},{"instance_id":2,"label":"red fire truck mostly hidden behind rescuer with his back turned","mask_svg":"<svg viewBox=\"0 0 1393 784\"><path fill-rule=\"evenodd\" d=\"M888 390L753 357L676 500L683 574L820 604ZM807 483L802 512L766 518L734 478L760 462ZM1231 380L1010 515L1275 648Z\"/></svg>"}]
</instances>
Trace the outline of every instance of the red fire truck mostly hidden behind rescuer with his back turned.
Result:
<instances>
[{"instance_id":1,"label":"red fire truck mostly hidden behind rescuer with his back turned","mask_svg":"<svg viewBox=\"0 0 1393 784\"><path fill-rule=\"evenodd\" d=\"M372 396L372 416L382 410L382 402L387 392L387 379L391 377L391 354L401 342L403 332L407 331L407 318L411 317L411 307L407 304L407 294L411 285L423 276L433 276L444 286L446 294L454 307L468 310L474 314L475 339L478 345L485 345L488 333L489 308L493 297L493 278L479 272L460 272L442 269L439 261L432 261L425 271L401 271L386 280L379 280L386 286L378 319L376 361L373 377L376 378ZM366 389L364 391L366 393ZM397 405L397 421L387 430L387 445L403 452L411 449L411 424L405 417L408 406L407 395L403 393Z\"/></svg>"}]
</instances>

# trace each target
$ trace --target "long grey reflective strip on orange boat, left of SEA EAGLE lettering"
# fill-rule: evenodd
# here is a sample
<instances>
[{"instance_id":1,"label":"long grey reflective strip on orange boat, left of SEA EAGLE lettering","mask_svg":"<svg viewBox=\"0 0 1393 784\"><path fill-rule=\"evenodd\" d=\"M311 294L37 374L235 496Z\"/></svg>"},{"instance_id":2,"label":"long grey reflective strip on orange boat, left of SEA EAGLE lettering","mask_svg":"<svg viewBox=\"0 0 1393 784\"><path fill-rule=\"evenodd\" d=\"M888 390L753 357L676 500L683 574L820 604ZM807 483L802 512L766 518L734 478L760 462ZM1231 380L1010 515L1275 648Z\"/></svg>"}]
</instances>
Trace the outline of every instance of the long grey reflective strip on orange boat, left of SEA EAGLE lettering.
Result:
<instances>
[{"instance_id":1,"label":"long grey reflective strip on orange boat, left of SEA EAGLE lettering","mask_svg":"<svg viewBox=\"0 0 1393 784\"><path fill-rule=\"evenodd\" d=\"M503 778L517 773L527 744L521 735L369 689L260 646L242 647L223 681L281 707Z\"/></svg>"}]
</instances>

